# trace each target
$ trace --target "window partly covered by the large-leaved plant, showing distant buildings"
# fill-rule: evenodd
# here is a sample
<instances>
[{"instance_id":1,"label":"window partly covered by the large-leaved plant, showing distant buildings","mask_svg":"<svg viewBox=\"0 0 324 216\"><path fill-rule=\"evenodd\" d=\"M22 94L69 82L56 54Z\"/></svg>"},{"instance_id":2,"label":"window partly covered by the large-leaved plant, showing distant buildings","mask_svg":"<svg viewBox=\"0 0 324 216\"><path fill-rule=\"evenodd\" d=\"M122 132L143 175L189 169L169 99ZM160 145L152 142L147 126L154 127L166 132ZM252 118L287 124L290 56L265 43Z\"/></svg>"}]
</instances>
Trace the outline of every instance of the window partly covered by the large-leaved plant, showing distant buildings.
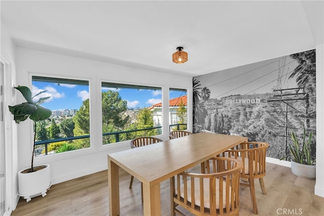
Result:
<instances>
[{"instance_id":1,"label":"window partly covered by the large-leaved plant, showing distant buildings","mask_svg":"<svg viewBox=\"0 0 324 216\"><path fill-rule=\"evenodd\" d=\"M51 97L42 106L52 115L37 122L35 156L89 148L89 81L32 76L32 94L45 90L37 97Z\"/></svg>"}]
</instances>

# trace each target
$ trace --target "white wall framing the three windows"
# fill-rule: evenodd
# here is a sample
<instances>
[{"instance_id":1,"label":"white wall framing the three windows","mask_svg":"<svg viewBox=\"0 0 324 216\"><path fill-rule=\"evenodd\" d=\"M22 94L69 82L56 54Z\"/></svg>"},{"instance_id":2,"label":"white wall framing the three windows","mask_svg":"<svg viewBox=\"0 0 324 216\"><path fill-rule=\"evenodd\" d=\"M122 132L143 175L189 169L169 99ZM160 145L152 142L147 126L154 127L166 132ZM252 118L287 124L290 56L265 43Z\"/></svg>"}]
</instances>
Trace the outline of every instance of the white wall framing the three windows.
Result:
<instances>
[{"instance_id":1,"label":"white wall framing the three windows","mask_svg":"<svg viewBox=\"0 0 324 216\"><path fill-rule=\"evenodd\" d=\"M163 107L166 110L163 121L169 124L169 88L178 87L188 90L188 98L192 92L192 77L169 73L143 70L128 66L114 65L105 62L63 56L59 54L36 50L17 48L17 85L31 85L31 75L43 75L74 79L88 79L90 83L90 125L91 149L80 152L65 152L60 154L37 157L35 164L49 163L51 166L51 181L53 184L67 181L80 176L92 174L107 168L107 154L129 149L129 142L102 146L101 129L101 81L123 82L130 84L155 85L163 88ZM22 102L22 97L17 102ZM188 102L192 104L191 101ZM188 108L191 116L192 108ZM191 125L188 122L188 125ZM168 129L165 127L161 139L168 139ZM30 164L32 143L32 122L24 121L18 125L18 156L19 168Z\"/></svg>"}]
</instances>

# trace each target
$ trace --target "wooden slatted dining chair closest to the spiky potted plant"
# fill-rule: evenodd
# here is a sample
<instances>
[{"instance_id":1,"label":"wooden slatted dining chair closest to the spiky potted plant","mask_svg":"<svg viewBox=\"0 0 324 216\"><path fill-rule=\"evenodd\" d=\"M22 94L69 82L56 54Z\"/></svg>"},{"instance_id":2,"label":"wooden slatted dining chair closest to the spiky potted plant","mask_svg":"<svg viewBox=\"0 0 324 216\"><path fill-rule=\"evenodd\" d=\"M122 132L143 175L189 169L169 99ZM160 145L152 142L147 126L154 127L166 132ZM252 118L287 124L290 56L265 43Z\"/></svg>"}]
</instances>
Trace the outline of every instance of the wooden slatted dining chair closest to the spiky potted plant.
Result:
<instances>
[{"instance_id":1,"label":"wooden slatted dining chair closest to the spiky potted plant","mask_svg":"<svg viewBox=\"0 0 324 216\"><path fill-rule=\"evenodd\" d=\"M242 181L240 181L240 186L250 187L253 212L255 214L258 214L258 206L254 186L255 179L259 179L262 193L267 194L263 177L266 175L265 157L268 147L268 143L244 142L236 145L230 150L227 150L227 153L224 154L231 158L240 159L243 162L244 168L241 172Z\"/></svg>"}]
</instances>

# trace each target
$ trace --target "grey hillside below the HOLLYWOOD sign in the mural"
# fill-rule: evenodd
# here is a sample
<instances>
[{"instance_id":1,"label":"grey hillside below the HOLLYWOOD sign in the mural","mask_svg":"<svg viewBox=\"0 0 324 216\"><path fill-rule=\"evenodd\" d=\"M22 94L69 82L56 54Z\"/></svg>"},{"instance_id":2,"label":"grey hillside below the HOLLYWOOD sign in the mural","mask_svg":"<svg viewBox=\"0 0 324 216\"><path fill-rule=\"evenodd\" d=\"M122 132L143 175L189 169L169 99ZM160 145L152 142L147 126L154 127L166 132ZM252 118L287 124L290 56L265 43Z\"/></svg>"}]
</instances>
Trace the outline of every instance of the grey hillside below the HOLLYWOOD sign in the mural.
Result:
<instances>
[{"instance_id":1,"label":"grey hillside below the HOLLYWOOD sign in the mural","mask_svg":"<svg viewBox=\"0 0 324 216\"><path fill-rule=\"evenodd\" d=\"M250 140L268 142L268 156L280 158L284 156L286 146L285 125L287 123L289 127L302 128L305 122L305 101L289 101L288 105L280 101L269 102L274 99L278 98L270 93L209 99L205 102L208 116L204 128L216 133L247 136ZM310 128L315 128L315 124L315 120L311 119ZM291 128L288 129L289 136L290 132ZM297 134L301 133L301 130L297 130ZM287 140L291 142L290 137Z\"/></svg>"}]
</instances>

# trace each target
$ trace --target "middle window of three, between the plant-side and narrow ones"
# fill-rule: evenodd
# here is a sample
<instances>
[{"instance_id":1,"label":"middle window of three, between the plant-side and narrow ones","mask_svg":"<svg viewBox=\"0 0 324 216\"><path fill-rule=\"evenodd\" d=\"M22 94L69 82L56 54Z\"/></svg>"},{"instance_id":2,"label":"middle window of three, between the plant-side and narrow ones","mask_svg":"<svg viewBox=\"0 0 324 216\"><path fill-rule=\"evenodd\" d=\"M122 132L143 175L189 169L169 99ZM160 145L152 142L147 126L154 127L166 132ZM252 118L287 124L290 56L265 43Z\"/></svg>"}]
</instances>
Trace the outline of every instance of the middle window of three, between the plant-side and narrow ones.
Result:
<instances>
[{"instance_id":1,"label":"middle window of three, between the plant-side and narrow ones","mask_svg":"<svg viewBox=\"0 0 324 216\"><path fill-rule=\"evenodd\" d=\"M162 89L102 82L103 145L162 133Z\"/></svg>"}]
</instances>

